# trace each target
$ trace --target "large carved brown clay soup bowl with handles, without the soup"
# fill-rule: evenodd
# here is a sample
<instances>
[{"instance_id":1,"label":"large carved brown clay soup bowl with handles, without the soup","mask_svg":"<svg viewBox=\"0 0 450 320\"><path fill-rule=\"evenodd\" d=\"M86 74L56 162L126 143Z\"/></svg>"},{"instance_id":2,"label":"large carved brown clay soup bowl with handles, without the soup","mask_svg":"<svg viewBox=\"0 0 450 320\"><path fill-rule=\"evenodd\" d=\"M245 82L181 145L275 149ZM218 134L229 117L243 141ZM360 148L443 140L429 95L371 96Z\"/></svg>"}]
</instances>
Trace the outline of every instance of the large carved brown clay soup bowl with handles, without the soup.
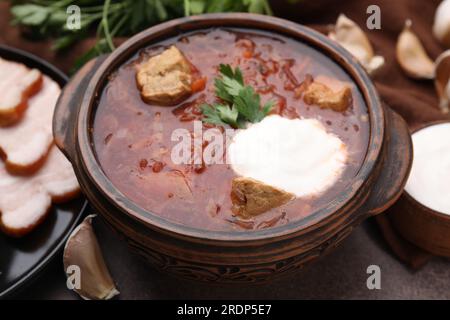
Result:
<instances>
[{"instance_id":1,"label":"large carved brown clay soup bowl with handles, without the soup","mask_svg":"<svg viewBox=\"0 0 450 320\"><path fill-rule=\"evenodd\" d=\"M339 197L303 220L253 232L213 232L180 225L127 199L96 160L90 128L96 97L107 76L143 47L211 27L268 30L315 47L337 62L364 96L370 138L362 167ZM91 205L131 248L161 270L220 283L264 281L300 269L333 250L364 219L394 203L412 158L405 122L383 106L370 78L347 51L304 26L242 13L172 20L139 33L109 56L91 61L66 86L54 117L54 135L73 163Z\"/></svg>"}]
</instances>

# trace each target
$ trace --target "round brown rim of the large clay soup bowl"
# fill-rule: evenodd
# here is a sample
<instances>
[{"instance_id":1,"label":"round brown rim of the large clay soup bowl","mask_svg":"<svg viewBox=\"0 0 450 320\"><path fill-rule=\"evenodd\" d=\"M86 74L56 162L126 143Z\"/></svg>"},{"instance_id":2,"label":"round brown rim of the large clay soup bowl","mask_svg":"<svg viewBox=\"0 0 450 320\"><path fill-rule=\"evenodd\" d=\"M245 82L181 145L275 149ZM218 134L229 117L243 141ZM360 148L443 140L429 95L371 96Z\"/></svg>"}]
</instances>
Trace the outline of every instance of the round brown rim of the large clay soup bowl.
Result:
<instances>
[{"instance_id":1,"label":"round brown rim of the large clay soup bowl","mask_svg":"<svg viewBox=\"0 0 450 320\"><path fill-rule=\"evenodd\" d=\"M188 33L194 30L205 30L214 27L235 27L257 31L268 31L296 39L297 41L312 46L328 56L328 58L346 71L358 86L364 97L368 108L370 123L369 142L364 161L361 164L357 175L354 177L353 182L350 183L336 199L303 219L290 222L286 225L263 230L253 230L251 232L212 231L187 226L145 210L129 200L114 187L113 183L101 169L100 163L97 161L91 142L89 124L92 123L91 120L95 114L93 110L96 106L96 93L101 87L101 84L105 81L107 75L145 46L156 44L161 40L168 39L176 34ZM250 13L219 13L170 20L146 29L124 42L106 57L89 80L87 90L84 93L81 102L75 130L77 134L77 156L79 156L81 160L80 164L86 171L90 182L94 184L97 191L106 197L114 207L128 217L131 217L133 220L140 223L144 223L147 227L152 229L156 228L160 231L169 232L179 237L211 241L244 242L292 236L298 232L308 230L319 222L323 222L336 216L335 213L340 212L340 210L365 186L365 183L368 182L370 174L377 164L384 142L385 112L378 92L363 67L347 50L328 39L326 36L306 26L280 18ZM363 202L360 203L360 206L362 205Z\"/></svg>"}]
</instances>

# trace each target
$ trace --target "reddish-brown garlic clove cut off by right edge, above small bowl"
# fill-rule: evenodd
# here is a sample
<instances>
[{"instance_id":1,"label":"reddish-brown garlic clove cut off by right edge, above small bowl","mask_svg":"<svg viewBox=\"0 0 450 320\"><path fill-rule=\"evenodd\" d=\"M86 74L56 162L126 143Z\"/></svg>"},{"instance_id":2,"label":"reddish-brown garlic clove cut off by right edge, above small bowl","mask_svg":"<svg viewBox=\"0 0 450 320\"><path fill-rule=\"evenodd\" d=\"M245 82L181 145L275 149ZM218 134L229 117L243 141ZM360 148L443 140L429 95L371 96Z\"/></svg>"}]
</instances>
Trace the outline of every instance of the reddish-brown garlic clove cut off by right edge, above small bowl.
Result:
<instances>
[{"instance_id":1,"label":"reddish-brown garlic clove cut off by right edge, above small bowl","mask_svg":"<svg viewBox=\"0 0 450 320\"><path fill-rule=\"evenodd\" d=\"M444 113L450 109L450 50L436 59L436 78L434 80L439 96L439 106Z\"/></svg>"}]
</instances>

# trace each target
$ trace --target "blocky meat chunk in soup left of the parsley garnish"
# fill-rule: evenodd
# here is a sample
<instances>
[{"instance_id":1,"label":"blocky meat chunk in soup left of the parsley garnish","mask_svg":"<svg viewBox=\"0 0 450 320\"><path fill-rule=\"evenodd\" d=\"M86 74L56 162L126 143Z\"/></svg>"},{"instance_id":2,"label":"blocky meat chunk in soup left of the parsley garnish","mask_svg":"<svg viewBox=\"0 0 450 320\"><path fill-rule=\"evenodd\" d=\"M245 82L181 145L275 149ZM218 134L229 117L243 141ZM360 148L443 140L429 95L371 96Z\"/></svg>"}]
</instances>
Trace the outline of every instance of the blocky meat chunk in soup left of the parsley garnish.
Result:
<instances>
[{"instance_id":1,"label":"blocky meat chunk in soup left of the parsley garnish","mask_svg":"<svg viewBox=\"0 0 450 320\"><path fill-rule=\"evenodd\" d=\"M192 91L191 66L175 46L138 66L136 80L148 103L174 105Z\"/></svg>"}]
</instances>

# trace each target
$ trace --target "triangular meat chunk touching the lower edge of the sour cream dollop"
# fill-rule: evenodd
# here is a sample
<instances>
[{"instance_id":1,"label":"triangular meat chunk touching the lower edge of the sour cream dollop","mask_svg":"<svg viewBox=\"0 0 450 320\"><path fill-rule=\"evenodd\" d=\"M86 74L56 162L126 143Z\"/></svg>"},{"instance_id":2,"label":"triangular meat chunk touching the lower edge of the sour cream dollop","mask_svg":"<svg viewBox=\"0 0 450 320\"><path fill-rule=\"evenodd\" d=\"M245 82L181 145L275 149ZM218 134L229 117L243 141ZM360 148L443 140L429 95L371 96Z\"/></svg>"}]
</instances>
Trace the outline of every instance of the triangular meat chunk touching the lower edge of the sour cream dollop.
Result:
<instances>
[{"instance_id":1,"label":"triangular meat chunk touching the lower edge of the sour cream dollop","mask_svg":"<svg viewBox=\"0 0 450 320\"><path fill-rule=\"evenodd\" d=\"M233 213L243 218L262 214L294 198L292 193L250 178L236 177L231 184Z\"/></svg>"}]
</instances>

